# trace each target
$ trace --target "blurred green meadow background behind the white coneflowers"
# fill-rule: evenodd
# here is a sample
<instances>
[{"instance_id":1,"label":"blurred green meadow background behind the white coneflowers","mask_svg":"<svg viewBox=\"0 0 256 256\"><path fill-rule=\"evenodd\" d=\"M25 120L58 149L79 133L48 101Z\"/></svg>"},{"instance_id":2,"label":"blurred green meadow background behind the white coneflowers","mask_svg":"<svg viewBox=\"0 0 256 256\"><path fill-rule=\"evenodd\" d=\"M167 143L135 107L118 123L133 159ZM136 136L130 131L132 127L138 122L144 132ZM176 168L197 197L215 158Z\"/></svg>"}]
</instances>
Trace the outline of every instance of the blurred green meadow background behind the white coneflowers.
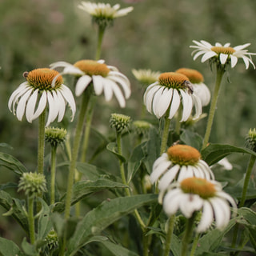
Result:
<instances>
[{"instance_id":1,"label":"blurred green meadow background behind the white coneflowers","mask_svg":"<svg viewBox=\"0 0 256 256\"><path fill-rule=\"evenodd\" d=\"M120 3L121 7L134 6L130 14L118 18L114 26L106 30L102 45L102 58L106 63L117 66L130 78L132 95L124 110L115 100L111 105L104 101L98 103L99 106L108 106L97 109L94 114L93 124L103 132L110 130L110 113L130 114L134 120L139 117L142 90L131 69L165 72L180 67L194 68L204 75L205 83L212 91L214 72L208 63L201 63L200 58L193 61L189 47L192 40L204 39L212 44L230 42L231 46L250 42L249 51L256 52L255 0L107 2L111 5ZM37 121L30 124L24 118L19 122L8 110L7 102L10 94L24 82L24 71L47 67L57 61L74 63L82 58L94 58L96 26L92 25L89 14L78 9L78 3L68 0L0 0L0 143L12 147L0 150L13 154L29 170L36 166ZM223 79L210 142L244 145L247 132L256 126L255 72L252 66L246 70L239 59L238 65ZM205 112L207 110L206 107ZM197 126L202 136L205 125L206 118ZM239 180L245 171L247 158L231 155L230 162L236 170L234 180ZM1 183L14 178L3 167L0 167L0 174Z\"/></svg>"}]
</instances>

